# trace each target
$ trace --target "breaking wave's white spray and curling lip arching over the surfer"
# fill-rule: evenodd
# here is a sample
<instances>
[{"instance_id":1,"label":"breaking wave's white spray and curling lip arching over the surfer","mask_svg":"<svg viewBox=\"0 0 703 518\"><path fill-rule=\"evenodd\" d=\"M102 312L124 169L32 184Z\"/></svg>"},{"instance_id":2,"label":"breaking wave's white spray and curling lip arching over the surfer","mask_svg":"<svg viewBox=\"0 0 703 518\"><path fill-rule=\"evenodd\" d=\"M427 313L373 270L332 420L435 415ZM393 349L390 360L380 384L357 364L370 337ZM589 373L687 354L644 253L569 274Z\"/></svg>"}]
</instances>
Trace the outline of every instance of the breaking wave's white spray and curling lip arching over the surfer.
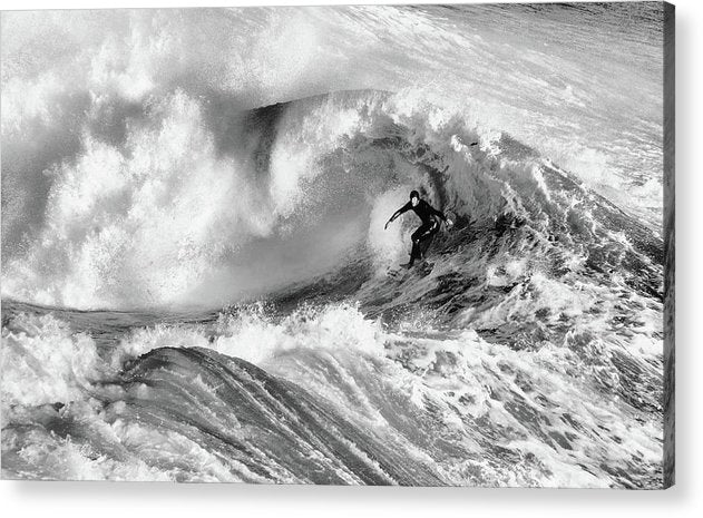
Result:
<instances>
[{"instance_id":1,"label":"breaking wave's white spray and curling lip arching over the surfer","mask_svg":"<svg viewBox=\"0 0 703 518\"><path fill-rule=\"evenodd\" d=\"M534 149L402 95L338 92L226 114L219 143L204 109L176 92L119 147L90 138L58 166L43 228L3 267L6 295L213 307L310 281L350 254L378 270L404 254L407 228L381 229L411 187L475 229L529 223L519 236L531 237L535 258L549 248L609 271L626 261L637 282L641 263L661 255L646 227ZM642 285L656 291L652 282Z\"/></svg>"}]
</instances>

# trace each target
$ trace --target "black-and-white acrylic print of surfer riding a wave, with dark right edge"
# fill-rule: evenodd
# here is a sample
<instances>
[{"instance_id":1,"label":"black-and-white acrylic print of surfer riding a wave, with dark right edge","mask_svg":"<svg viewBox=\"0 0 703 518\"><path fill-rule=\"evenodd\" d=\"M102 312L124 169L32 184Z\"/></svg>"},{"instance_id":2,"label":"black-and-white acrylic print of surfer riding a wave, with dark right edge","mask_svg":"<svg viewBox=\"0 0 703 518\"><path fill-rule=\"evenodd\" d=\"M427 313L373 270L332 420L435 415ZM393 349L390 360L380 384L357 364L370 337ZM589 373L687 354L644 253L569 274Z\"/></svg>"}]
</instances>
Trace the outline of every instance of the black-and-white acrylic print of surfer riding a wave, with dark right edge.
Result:
<instances>
[{"instance_id":1,"label":"black-and-white acrylic print of surfer riding a wave, with dark right edge","mask_svg":"<svg viewBox=\"0 0 703 518\"><path fill-rule=\"evenodd\" d=\"M1 38L3 478L671 485L671 6Z\"/></svg>"}]
</instances>

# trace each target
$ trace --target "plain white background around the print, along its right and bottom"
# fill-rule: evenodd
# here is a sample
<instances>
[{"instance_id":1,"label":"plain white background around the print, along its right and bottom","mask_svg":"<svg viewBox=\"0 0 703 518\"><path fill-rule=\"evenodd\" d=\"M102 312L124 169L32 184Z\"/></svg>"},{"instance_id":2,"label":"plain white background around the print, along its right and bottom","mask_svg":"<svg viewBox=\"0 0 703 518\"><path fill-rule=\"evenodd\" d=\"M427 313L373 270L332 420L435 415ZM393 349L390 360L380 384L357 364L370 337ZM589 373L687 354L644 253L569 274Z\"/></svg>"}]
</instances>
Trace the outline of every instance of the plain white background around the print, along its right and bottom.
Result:
<instances>
[{"instance_id":1,"label":"plain white background around the print, along its right and bottom","mask_svg":"<svg viewBox=\"0 0 703 518\"><path fill-rule=\"evenodd\" d=\"M2 10L87 9L126 7L206 7L261 4L380 3L286 0L0 0ZM384 2L402 3L402 2ZM456 3L424 1L423 3ZM466 3L478 3L466 0ZM402 516L510 516L519 518L582 518L603 516L703 516L703 131L701 62L703 2L675 0L676 6L676 486L667 491L340 488L300 486L175 485L137 482L0 481L0 512L6 517L99 518L156 515L159 517L230 518Z\"/></svg>"}]
</instances>

